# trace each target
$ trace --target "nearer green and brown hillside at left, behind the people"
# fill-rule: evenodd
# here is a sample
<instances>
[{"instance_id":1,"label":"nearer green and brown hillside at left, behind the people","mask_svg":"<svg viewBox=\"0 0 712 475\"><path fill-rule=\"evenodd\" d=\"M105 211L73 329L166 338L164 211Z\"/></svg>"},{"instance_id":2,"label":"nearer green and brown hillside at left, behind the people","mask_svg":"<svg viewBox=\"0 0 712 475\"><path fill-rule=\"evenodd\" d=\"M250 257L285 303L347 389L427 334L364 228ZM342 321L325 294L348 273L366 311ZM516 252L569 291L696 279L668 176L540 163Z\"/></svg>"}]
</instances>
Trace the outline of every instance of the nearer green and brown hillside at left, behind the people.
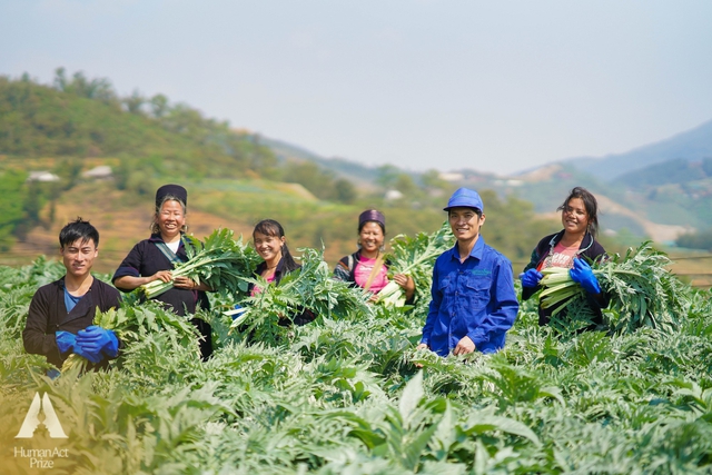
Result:
<instances>
[{"instance_id":1,"label":"nearer green and brown hillside at left, behind the people","mask_svg":"<svg viewBox=\"0 0 712 475\"><path fill-rule=\"evenodd\" d=\"M198 238L224 226L248 239L258 220L273 218L293 248L324 248L334 263L356 249L364 209L385 212L387 239L433 232L445 219L443 196L455 185L432 174L392 166L369 170L344 160L338 175L297 160L295 147L273 150L266 141L161 95L118 97L108 80L82 73L69 78L59 69L52 86L27 75L0 76L0 258L19 264L55 255L59 229L81 216L99 225L110 270L148 237L154 192L166 182L189 190L188 224ZM110 175L89 177L96 167ZM353 185L357 170L370 187ZM38 171L47 181L30 179ZM393 188L402 194L386 198ZM532 243L557 226L531 212L528 202L481 194L493 212L487 241L514 261L528 257Z\"/></svg>"}]
</instances>

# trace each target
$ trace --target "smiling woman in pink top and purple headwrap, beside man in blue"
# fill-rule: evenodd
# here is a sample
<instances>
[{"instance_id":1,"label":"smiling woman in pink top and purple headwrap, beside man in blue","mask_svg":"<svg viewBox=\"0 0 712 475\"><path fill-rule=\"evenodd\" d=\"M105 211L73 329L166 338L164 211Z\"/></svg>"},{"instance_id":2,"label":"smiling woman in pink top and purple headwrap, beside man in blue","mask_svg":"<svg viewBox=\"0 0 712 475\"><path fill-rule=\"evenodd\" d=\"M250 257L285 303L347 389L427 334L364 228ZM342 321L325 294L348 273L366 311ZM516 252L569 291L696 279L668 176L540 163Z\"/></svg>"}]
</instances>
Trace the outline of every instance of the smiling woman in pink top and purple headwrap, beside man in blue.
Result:
<instances>
[{"instance_id":1,"label":"smiling woman in pink top and purple headwrap, beside man in blue","mask_svg":"<svg viewBox=\"0 0 712 475\"><path fill-rule=\"evenodd\" d=\"M378 294L388 284L388 263L383 254L385 239L386 217L375 209L362 212L358 217L358 250L338 261L334 277ZM415 294L413 279L404 274L396 274L393 279L403 287L409 303Z\"/></svg>"}]
</instances>

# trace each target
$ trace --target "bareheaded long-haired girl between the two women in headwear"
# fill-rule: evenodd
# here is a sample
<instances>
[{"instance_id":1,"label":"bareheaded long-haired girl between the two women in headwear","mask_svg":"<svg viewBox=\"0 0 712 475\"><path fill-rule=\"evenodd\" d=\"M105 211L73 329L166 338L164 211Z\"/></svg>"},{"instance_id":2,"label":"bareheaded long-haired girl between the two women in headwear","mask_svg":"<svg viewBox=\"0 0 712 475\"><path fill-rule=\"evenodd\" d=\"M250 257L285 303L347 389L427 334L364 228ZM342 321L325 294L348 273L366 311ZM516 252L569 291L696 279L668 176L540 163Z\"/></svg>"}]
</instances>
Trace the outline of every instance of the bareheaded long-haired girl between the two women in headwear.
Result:
<instances>
[{"instance_id":1,"label":"bareheaded long-haired girl between the two women in headwear","mask_svg":"<svg viewBox=\"0 0 712 475\"><path fill-rule=\"evenodd\" d=\"M268 284L274 283L278 285L284 276L301 267L294 260L294 257L291 257L289 253L285 229L274 219L263 219L255 226L253 241L255 243L257 254L265 259L255 269L255 276L263 277ZM255 296L261 291L261 288L250 283L247 290L250 296ZM291 321L294 321L295 325L306 325L315 318L312 311L305 310L299 315L294 315ZM290 319L286 317L280 318L279 325L288 326L289 320Z\"/></svg>"}]
</instances>

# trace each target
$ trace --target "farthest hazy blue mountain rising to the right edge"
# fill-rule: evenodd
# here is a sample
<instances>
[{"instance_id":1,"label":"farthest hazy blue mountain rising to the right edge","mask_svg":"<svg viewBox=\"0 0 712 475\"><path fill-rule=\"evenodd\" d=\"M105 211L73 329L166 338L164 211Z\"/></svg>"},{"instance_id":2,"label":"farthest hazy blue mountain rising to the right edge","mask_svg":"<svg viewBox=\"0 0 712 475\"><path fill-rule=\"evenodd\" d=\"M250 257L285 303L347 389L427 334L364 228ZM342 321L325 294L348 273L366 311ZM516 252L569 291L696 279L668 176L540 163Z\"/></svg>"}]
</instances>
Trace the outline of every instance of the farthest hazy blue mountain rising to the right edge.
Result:
<instances>
[{"instance_id":1,"label":"farthest hazy blue mountain rising to the right edge","mask_svg":"<svg viewBox=\"0 0 712 475\"><path fill-rule=\"evenodd\" d=\"M669 139L605 157L578 157L564 160L603 180L672 159L702 161L712 158L712 120Z\"/></svg>"}]
</instances>

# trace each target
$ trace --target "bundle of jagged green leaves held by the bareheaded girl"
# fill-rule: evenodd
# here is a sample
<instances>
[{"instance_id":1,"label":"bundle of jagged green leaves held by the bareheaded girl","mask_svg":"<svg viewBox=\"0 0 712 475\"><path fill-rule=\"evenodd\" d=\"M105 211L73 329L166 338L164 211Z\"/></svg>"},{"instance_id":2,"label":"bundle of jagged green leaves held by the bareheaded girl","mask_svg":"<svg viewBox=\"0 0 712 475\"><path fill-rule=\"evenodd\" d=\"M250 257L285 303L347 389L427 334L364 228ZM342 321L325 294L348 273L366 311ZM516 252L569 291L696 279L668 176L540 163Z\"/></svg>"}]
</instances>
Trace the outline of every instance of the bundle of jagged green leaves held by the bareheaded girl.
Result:
<instances>
[{"instance_id":1,"label":"bundle of jagged green leaves held by the bareheaded girl","mask_svg":"<svg viewBox=\"0 0 712 475\"><path fill-rule=\"evenodd\" d=\"M315 316L346 318L349 315L372 315L367 304L368 295L348 283L336 280L323 251L299 249L301 267L281 278L279 285L269 285L261 277L245 277L261 291L240 301L244 311L239 313L231 328L250 334L260 342L276 337L280 319L294 319L306 310ZM237 315L228 311L227 315Z\"/></svg>"}]
</instances>

